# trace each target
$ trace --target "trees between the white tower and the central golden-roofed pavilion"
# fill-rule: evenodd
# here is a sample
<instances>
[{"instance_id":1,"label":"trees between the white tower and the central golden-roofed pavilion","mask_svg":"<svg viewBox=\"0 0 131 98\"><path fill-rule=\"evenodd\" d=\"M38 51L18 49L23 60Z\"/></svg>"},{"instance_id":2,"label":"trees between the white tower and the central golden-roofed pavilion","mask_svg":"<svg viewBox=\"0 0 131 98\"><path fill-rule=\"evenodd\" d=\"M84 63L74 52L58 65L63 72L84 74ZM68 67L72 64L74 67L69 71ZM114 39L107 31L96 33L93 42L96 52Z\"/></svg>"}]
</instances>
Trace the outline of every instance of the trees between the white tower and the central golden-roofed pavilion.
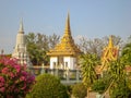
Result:
<instances>
[{"instance_id":1,"label":"trees between the white tower and the central golden-roofed pavilion","mask_svg":"<svg viewBox=\"0 0 131 98\"><path fill-rule=\"evenodd\" d=\"M27 51L34 65L41 65L41 63L47 65L49 63L46 52L58 44L59 38L56 34L47 36L29 33L26 35Z\"/></svg>"}]
</instances>

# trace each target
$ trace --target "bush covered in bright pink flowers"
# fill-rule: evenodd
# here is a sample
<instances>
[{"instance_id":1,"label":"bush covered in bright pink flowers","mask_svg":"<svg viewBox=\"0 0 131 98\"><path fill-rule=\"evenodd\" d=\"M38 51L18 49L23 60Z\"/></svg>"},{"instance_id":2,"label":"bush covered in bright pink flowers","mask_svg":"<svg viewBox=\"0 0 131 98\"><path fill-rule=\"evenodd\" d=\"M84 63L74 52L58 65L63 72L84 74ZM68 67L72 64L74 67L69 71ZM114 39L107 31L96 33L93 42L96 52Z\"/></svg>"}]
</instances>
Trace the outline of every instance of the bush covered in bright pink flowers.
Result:
<instances>
[{"instance_id":1,"label":"bush covered in bright pink flowers","mask_svg":"<svg viewBox=\"0 0 131 98\"><path fill-rule=\"evenodd\" d=\"M20 65L16 59L0 58L0 98L25 97L35 77Z\"/></svg>"}]
</instances>

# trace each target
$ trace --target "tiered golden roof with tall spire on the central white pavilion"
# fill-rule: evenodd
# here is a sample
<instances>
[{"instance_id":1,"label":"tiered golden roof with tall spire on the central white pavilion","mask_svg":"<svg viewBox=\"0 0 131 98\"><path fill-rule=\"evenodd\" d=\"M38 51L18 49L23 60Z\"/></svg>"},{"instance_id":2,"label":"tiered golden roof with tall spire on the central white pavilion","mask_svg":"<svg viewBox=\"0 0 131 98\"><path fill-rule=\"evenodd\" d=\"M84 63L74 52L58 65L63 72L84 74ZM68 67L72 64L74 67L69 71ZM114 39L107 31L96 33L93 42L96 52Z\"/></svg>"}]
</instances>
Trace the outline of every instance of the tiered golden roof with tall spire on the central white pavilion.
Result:
<instances>
[{"instance_id":1,"label":"tiered golden roof with tall spire on the central white pavilion","mask_svg":"<svg viewBox=\"0 0 131 98\"><path fill-rule=\"evenodd\" d=\"M68 14L64 34L60 42L53 49L49 50L47 54L48 56L78 56L80 53L81 51L75 46L74 40L71 36L70 16Z\"/></svg>"}]
</instances>

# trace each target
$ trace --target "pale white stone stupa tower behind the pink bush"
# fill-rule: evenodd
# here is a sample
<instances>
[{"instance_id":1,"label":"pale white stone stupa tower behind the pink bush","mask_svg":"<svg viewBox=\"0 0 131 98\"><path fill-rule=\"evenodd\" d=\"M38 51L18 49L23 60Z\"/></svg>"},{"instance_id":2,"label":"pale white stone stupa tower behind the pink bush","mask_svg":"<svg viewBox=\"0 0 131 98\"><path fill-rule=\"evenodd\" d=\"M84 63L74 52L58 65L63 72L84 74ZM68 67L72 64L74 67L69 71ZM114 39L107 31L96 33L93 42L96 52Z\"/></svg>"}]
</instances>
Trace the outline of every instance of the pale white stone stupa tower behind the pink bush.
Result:
<instances>
[{"instance_id":1,"label":"pale white stone stupa tower behind the pink bush","mask_svg":"<svg viewBox=\"0 0 131 98\"><path fill-rule=\"evenodd\" d=\"M19 63L21 65L26 64L27 66L31 66L29 58L26 51L26 44L25 44L25 35L24 35L24 28L23 28L23 22L20 23L20 29L16 35L16 44L14 51L12 53L12 58L16 58L19 60Z\"/></svg>"}]
</instances>

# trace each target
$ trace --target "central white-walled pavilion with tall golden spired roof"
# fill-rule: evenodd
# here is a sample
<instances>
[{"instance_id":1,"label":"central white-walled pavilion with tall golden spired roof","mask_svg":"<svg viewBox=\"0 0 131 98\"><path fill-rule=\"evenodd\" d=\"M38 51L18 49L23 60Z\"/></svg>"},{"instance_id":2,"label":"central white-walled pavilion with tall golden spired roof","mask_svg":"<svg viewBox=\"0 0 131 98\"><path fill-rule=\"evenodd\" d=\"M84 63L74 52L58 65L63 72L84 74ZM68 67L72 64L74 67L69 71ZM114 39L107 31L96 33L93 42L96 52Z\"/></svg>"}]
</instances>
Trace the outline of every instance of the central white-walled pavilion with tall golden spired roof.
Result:
<instances>
[{"instance_id":1,"label":"central white-walled pavilion with tall golden spired roof","mask_svg":"<svg viewBox=\"0 0 131 98\"><path fill-rule=\"evenodd\" d=\"M70 69L75 70L78 65L78 57L81 53L75 46L71 35L70 15L68 13L64 34L60 42L47 52L50 57L50 69Z\"/></svg>"}]
</instances>

